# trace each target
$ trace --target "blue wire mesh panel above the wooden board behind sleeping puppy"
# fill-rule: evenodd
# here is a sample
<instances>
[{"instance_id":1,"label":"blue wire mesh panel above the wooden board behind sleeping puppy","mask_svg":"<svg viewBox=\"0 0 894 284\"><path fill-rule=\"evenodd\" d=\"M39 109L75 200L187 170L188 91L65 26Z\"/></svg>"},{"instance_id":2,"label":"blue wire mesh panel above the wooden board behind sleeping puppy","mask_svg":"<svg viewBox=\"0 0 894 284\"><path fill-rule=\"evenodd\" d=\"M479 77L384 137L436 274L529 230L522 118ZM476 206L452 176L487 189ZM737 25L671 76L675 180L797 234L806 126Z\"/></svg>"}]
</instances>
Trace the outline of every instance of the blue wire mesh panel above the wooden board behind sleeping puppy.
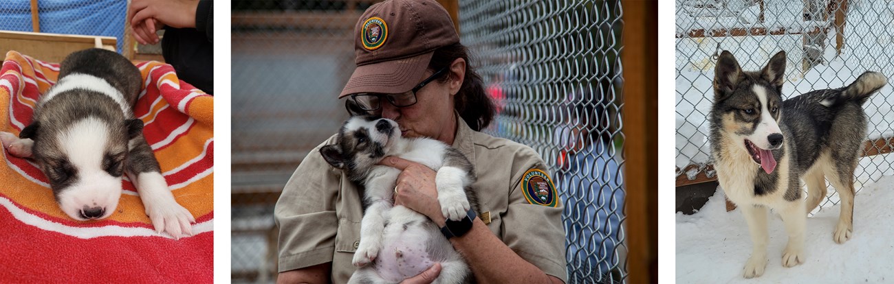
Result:
<instances>
[{"instance_id":1,"label":"blue wire mesh panel above the wooden board behind sleeping puppy","mask_svg":"<svg viewBox=\"0 0 894 284\"><path fill-rule=\"evenodd\" d=\"M127 1L39 0L38 16L42 33L114 37L122 51ZM0 0L0 29L33 31L30 2Z\"/></svg>"}]
</instances>

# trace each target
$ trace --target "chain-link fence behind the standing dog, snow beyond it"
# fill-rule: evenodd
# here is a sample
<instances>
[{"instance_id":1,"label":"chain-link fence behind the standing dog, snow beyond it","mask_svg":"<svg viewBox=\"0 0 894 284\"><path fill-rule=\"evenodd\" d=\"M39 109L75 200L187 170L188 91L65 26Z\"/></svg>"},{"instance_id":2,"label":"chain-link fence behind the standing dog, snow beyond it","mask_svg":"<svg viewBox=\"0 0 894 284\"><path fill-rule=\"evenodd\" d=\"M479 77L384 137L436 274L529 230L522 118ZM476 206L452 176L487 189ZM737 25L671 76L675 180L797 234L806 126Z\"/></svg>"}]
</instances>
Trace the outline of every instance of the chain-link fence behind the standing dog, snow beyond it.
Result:
<instances>
[{"instance_id":1,"label":"chain-link fence behind the standing dog, snow beyond it","mask_svg":"<svg viewBox=\"0 0 894 284\"><path fill-rule=\"evenodd\" d=\"M883 0L677 0L676 158L678 186L713 179L708 121L716 56L730 50L744 70L788 54L783 98L841 88L864 71L894 74L894 3ZM894 174L894 95L886 86L864 104L869 130L857 191ZM682 180L682 182L681 182ZM832 194L820 208L838 204ZM819 210L819 208L817 209Z\"/></svg>"}]
</instances>

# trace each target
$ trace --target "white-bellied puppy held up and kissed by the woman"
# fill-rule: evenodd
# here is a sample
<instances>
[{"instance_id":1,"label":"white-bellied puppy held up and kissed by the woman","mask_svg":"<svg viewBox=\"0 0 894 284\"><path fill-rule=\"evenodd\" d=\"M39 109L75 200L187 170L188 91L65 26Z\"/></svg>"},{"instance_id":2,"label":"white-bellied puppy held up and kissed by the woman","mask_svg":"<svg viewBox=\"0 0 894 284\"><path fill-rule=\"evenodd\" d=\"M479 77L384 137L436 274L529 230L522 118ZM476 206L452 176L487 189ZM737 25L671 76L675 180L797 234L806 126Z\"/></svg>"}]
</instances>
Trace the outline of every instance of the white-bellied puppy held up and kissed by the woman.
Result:
<instances>
[{"instance_id":1,"label":"white-bellied puppy held up and kissed by the woman","mask_svg":"<svg viewBox=\"0 0 894 284\"><path fill-rule=\"evenodd\" d=\"M459 221L469 208L478 211L469 185L472 164L459 150L430 138L401 138L397 122L375 116L353 116L342 126L334 145L320 148L327 163L365 186L366 211L360 222L360 244L352 263L359 266L350 283L397 283L441 263L437 283L459 283L471 277L468 264L434 222L393 204L401 171L377 165L398 156L437 171L438 201L447 219ZM367 265L372 263L371 265Z\"/></svg>"}]
</instances>

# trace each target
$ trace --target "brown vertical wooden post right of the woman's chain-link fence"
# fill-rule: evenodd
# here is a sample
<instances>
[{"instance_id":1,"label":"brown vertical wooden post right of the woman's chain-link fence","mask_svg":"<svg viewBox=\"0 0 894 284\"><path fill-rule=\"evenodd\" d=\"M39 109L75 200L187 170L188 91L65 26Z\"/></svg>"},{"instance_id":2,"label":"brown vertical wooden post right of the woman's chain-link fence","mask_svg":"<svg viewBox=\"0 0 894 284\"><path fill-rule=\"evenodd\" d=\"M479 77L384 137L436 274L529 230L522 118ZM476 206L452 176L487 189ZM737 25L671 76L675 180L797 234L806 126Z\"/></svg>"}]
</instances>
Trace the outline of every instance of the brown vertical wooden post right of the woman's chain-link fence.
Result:
<instances>
[{"instance_id":1,"label":"brown vertical wooden post right of the woman's chain-link fence","mask_svg":"<svg viewBox=\"0 0 894 284\"><path fill-rule=\"evenodd\" d=\"M658 4L621 0L624 8L625 154L628 283L658 282Z\"/></svg>"}]
</instances>

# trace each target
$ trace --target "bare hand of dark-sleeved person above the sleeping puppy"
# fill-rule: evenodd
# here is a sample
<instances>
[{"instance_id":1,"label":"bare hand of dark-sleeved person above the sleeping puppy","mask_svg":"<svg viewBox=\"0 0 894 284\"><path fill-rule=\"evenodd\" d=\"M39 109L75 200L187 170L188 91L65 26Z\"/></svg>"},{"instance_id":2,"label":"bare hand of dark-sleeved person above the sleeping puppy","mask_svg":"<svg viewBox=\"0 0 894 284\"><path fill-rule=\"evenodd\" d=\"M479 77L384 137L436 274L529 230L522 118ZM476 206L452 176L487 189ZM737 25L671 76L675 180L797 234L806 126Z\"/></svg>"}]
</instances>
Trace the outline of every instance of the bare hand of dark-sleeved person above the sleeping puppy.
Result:
<instances>
[{"instance_id":1,"label":"bare hand of dark-sleeved person above the sleeping puppy","mask_svg":"<svg viewBox=\"0 0 894 284\"><path fill-rule=\"evenodd\" d=\"M158 42L156 30L196 27L196 0L133 0L127 11L134 38L141 44Z\"/></svg>"}]
</instances>

